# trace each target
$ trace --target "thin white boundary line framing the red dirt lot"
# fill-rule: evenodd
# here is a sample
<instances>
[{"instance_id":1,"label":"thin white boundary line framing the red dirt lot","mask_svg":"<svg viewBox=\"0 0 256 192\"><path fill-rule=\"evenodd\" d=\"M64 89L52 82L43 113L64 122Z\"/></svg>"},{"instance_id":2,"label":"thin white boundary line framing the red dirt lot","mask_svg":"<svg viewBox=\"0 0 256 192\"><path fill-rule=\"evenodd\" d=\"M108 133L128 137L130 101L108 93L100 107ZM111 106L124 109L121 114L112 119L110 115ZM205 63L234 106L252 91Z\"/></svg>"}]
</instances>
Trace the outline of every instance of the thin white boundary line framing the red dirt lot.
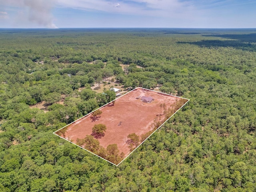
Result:
<instances>
[{"instance_id":1,"label":"thin white boundary line framing the red dirt lot","mask_svg":"<svg viewBox=\"0 0 256 192\"><path fill-rule=\"evenodd\" d=\"M150 89L146 89L146 88L142 88L142 87L136 87L135 89L138 89L138 88L141 88L141 89L144 89L144 90L149 90L149 91L154 91L154 92L157 92L157 93L161 93L161 94L165 94L165 95L169 95L169 96L174 96L174 97L178 97L178 98L182 98L182 99L186 99L186 98L183 98L183 97L179 97L179 96L175 96L175 95L171 95L171 94L167 94L167 93L162 93L162 92L158 92L158 91L155 91L155 90L150 90ZM133 90L135 90L135 89L133 89ZM133 91L133 90L131 90L131 91ZM129 92L131 92L131 91L129 91ZM128 94L129 92L127 92L126 94ZM126 94L124 94L124 95L126 95ZM124 95L122 95L122 96L124 96ZM122 97L122 96L120 96L120 97ZM118 98L120 98L120 97L118 97ZM118 98L116 98L116 99L114 99L114 100L117 100ZM113 101L114 101L114 100L113 100ZM188 101L187 101L186 103L184 103L176 112L178 112L184 105L186 105L186 104L190 101L190 99L186 99L186 100L188 100ZM113 101L108 102L107 104L101 106L100 108L102 108L102 107L104 107L104 106L110 104L110 103L113 102ZM100 108L97 108L96 110L98 110L98 109L100 109ZM96 111L96 110L94 110L94 111ZM92 112L86 114L85 116L89 116L89 115L92 114L94 111L92 111ZM176 114L176 112L175 112L174 114ZM172 116L174 116L174 114L172 114ZM81 118L79 118L79 119L73 121L72 123L70 123L70 124L68 124L68 125L66 125L66 126L69 126L69 125L73 124L74 122L76 122L76 121L78 121L78 120L84 118L85 116L82 116ZM163 124L165 124L172 116L170 116ZM163 125L163 124L162 124L162 125ZM156 132L162 125L160 125L154 132ZM82 148L81 146L79 146L79 145L77 145L77 144L75 144L75 143L73 143L73 142L71 142L71 141L69 141L69 140L67 140L67 139L65 139L65 138L63 138L63 137L61 137L61 136L59 136L58 134L55 133L55 132L57 132L57 131L59 131L59 130L65 128L66 126L64 126L64 127L60 128L60 129L54 131L53 134L56 135L56 136L58 136L58 137L60 137L60 138L62 138L62 139L64 139L64 140L66 140L66 141L68 141L68 142L70 142L70 143L72 143L72 144L74 144L74 145L76 145L76 146L78 146L78 147L80 147L80 148ZM152 134L154 134L154 132L153 132ZM150 136L151 136L152 134L150 134ZM150 136L148 136L141 144L143 144ZM130 154L132 154L141 144L139 144L132 152L130 152ZM82 148L82 149L84 149L84 150L90 152L89 150L87 150L87 149L85 149L85 148ZM90 153L91 153L91 154L94 154L93 152L90 152ZM128 154L128 156L130 156L130 154ZM94 155L96 155L96 154L94 154ZM98 155L96 155L96 156L98 156ZM126 156L126 158L127 158L128 156ZM102 157L100 157L100 156L98 156L98 157L99 157L99 158L102 158ZM124 158L120 163L122 163L126 158ZM102 158L102 159L104 159L104 158ZM106 159L104 159L104 160L106 160ZM108 160L106 160L106 161L107 161L107 162L110 162L110 161L108 161ZM113 164L113 165L115 165L115 166L118 166L118 165L120 164L120 163L118 163L118 164L116 165L116 164L114 164L114 163L112 163L112 162L110 162L110 163Z\"/></svg>"}]
</instances>

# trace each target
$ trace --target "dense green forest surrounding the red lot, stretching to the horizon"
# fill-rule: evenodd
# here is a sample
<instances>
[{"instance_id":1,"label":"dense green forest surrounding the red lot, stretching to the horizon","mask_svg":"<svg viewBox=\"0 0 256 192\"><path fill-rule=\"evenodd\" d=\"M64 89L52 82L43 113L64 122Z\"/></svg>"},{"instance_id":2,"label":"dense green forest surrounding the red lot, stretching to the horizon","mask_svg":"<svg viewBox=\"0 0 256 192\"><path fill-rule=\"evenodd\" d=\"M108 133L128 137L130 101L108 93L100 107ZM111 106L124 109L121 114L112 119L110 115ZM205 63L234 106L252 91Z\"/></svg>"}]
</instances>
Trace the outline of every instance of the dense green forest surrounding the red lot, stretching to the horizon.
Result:
<instances>
[{"instance_id":1,"label":"dense green forest surrounding the red lot, stretching to the horizon","mask_svg":"<svg viewBox=\"0 0 256 192\"><path fill-rule=\"evenodd\" d=\"M256 191L255 34L0 29L0 191ZM53 134L110 82L190 99L119 166Z\"/></svg>"}]
</instances>

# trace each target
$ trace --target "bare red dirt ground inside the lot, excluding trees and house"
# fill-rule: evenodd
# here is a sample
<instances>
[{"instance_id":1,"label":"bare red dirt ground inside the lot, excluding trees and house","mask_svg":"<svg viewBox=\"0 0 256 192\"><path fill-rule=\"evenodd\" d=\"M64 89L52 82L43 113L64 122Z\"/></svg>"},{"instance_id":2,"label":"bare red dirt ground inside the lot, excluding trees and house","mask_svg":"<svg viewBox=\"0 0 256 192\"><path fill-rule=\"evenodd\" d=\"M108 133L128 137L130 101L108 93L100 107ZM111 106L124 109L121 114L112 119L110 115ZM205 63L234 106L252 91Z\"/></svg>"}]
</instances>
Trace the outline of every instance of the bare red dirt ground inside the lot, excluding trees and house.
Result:
<instances>
[{"instance_id":1,"label":"bare red dirt ground inside the lot, excluding trees and house","mask_svg":"<svg viewBox=\"0 0 256 192\"><path fill-rule=\"evenodd\" d=\"M154 98L152 103L145 103L139 99L138 96L151 96ZM100 110L102 114L97 120L93 121L92 114L88 114L83 118L73 122L67 128L65 138L76 143L77 138L85 138L86 135L92 134L92 127L95 124L105 124L107 130L102 138L98 138L100 145L106 148L109 144L117 144L118 149L124 152L125 157L130 152L129 144L126 143L129 134L135 133L138 136L153 130L154 119L156 117L164 119L164 115L159 116L163 109L160 109L160 104L165 103L166 108L172 106L180 98L146 90L143 88L136 88L124 96L116 99L115 104L108 104ZM121 126L118 126L122 122Z\"/></svg>"}]
</instances>

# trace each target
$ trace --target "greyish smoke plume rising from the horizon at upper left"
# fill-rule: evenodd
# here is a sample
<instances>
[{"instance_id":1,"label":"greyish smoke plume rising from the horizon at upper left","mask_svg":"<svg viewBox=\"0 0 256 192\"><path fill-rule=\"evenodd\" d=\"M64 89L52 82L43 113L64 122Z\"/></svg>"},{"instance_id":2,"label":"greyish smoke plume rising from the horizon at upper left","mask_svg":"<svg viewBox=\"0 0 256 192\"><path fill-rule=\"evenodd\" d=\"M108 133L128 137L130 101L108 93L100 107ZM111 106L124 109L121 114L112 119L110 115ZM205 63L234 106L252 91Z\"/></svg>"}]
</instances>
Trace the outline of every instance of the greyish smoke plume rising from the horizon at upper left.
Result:
<instances>
[{"instance_id":1,"label":"greyish smoke plume rising from the horizon at upper left","mask_svg":"<svg viewBox=\"0 0 256 192\"><path fill-rule=\"evenodd\" d=\"M53 23L52 8L56 0L24 0L28 19L46 28L57 28Z\"/></svg>"}]
</instances>

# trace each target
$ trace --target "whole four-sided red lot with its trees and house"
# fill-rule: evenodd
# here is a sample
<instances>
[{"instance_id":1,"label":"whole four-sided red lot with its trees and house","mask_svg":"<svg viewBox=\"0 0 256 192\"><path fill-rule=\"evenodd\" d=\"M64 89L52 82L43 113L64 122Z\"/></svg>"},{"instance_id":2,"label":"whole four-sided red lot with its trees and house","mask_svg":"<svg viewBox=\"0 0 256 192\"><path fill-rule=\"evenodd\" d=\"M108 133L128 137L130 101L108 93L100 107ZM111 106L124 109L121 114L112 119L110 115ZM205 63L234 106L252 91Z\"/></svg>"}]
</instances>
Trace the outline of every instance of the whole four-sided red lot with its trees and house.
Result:
<instances>
[{"instance_id":1,"label":"whole four-sided red lot with its trees and house","mask_svg":"<svg viewBox=\"0 0 256 192\"><path fill-rule=\"evenodd\" d=\"M54 134L118 165L188 101L138 87Z\"/></svg>"}]
</instances>

